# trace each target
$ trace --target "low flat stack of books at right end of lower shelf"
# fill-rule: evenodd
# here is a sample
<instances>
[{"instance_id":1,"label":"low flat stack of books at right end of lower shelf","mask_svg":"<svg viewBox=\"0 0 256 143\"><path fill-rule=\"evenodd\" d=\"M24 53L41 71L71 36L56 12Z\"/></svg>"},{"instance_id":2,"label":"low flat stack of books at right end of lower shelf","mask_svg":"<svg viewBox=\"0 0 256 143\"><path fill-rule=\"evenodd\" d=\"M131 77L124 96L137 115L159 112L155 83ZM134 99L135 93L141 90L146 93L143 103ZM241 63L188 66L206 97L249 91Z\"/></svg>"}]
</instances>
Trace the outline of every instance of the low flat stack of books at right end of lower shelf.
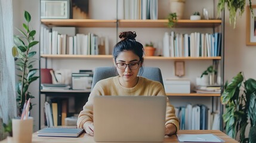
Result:
<instances>
[{"instance_id":1,"label":"low flat stack of books at right end of lower shelf","mask_svg":"<svg viewBox=\"0 0 256 143\"><path fill-rule=\"evenodd\" d=\"M220 94L220 86L196 86L196 93L198 94Z\"/></svg>"}]
</instances>

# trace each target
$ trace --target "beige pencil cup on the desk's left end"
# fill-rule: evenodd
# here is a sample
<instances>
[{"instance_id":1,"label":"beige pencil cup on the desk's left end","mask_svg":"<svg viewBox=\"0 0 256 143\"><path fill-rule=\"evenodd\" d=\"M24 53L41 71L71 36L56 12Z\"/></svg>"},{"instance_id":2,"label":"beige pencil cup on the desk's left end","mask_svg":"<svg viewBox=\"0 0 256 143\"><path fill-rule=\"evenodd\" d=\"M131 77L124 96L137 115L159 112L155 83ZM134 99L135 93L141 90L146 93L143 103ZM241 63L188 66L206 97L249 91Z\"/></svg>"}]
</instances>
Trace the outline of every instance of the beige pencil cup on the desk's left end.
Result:
<instances>
[{"instance_id":1,"label":"beige pencil cup on the desk's left end","mask_svg":"<svg viewBox=\"0 0 256 143\"><path fill-rule=\"evenodd\" d=\"M25 120L13 119L13 142L31 143L33 133L33 117Z\"/></svg>"}]
</instances>

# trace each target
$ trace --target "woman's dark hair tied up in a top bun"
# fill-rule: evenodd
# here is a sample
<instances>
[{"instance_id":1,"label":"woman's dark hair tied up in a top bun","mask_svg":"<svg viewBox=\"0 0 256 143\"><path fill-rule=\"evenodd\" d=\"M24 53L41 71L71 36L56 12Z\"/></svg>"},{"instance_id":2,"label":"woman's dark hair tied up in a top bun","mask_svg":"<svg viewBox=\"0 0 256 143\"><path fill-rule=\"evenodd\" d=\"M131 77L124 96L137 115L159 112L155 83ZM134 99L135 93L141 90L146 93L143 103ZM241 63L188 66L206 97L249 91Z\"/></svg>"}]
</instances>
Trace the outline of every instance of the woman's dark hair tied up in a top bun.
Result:
<instances>
[{"instance_id":1,"label":"woman's dark hair tied up in a top bun","mask_svg":"<svg viewBox=\"0 0 256 143\"><path fill-rule=\"evenodd\" d=\"M118 57L120 52L123 51L132 51L134 54L138 55L140 58L141 63L143 63L143 45L140 42L137 42L135 40L136 38L136 32L121 32L119 33L119 38L121 38L121 41L116 43L113 49L113 58L116 61L116 58Z\"/></svg>"}]
</instances>

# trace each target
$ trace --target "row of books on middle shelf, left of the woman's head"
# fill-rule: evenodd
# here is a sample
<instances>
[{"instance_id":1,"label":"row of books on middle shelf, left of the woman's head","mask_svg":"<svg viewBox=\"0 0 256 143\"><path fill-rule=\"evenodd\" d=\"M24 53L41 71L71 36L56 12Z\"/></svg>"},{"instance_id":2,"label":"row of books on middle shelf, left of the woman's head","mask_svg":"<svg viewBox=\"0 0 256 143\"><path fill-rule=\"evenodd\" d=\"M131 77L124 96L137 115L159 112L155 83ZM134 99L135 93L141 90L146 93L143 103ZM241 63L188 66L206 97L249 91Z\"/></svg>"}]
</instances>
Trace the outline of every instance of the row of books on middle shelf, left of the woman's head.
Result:
<instances>
[{"instance_id":1,"label":"row of books on middle shelf, left of the woman's head","mask_svg":"<svg viewBox=\"0 0 256 143\"><path fill-rule=\"evenodd\" d=\"M109 40L94 33L61 34L41 27L41 54L99 55L109 54Z\"/></svg>"}]
</instances>

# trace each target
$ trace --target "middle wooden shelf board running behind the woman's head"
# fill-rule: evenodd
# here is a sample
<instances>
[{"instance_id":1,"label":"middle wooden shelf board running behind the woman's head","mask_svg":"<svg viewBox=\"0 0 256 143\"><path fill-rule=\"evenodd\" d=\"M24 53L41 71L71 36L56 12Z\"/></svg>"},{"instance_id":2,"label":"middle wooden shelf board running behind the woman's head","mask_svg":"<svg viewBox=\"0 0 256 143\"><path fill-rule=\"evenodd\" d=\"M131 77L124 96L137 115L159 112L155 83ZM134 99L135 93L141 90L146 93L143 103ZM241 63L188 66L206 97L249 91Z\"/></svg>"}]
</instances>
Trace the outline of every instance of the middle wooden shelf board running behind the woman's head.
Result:
<instances>
[{"instance_id":1,"label":"middle wooden shelf board running behind the woman's head","mask_svg":"<svg viewBox=\"0 0 256 143\"><path fill-rule=\"evenodd\" d=\"M51 54L42 54L42 58L68 58L68 59L78 59L78 58L95 58L95 59L104 59L112 58L112 55L51 55ZM161 57L161 56L146 56L145 60L221 60L221 57Z\"/></svg>"}]
</instances>

